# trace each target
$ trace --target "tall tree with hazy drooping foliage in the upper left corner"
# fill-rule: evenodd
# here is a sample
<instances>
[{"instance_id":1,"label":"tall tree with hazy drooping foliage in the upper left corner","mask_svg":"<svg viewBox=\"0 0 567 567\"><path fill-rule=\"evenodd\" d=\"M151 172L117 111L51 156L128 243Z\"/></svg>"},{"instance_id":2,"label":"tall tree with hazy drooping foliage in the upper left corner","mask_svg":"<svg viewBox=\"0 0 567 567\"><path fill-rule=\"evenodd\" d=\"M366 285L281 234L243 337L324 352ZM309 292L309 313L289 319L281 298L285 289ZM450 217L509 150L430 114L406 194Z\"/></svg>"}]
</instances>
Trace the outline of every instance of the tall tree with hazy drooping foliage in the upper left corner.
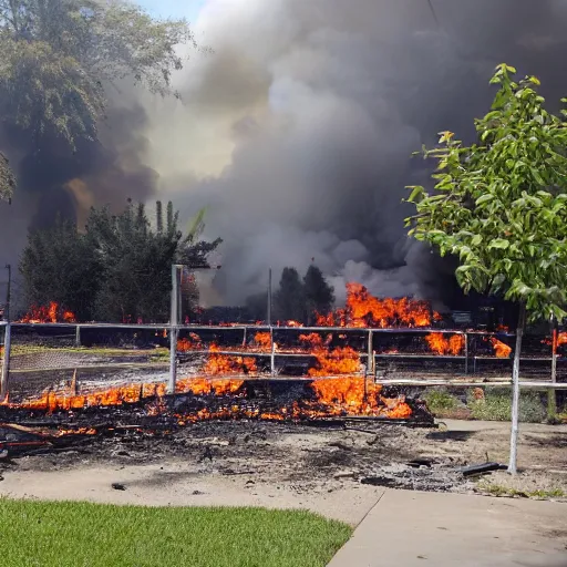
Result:
<instances>
[{"instance_id":1,"label":"tall tree with hazy drooping foliage in the upper left corner","mask_svg":"<svg viewBox=\"0 0 567 567\"><path fill-rule=\"evenodd\" d=\"M0 122L35 146L96 140L109 85L130 78L151 92L172 93L193 42L185 20L155 20L123 0L0 0ZM177 94L177 93L173 93ZM13 183L0 164L0 197Z\"/></svg>"}]
</instances>

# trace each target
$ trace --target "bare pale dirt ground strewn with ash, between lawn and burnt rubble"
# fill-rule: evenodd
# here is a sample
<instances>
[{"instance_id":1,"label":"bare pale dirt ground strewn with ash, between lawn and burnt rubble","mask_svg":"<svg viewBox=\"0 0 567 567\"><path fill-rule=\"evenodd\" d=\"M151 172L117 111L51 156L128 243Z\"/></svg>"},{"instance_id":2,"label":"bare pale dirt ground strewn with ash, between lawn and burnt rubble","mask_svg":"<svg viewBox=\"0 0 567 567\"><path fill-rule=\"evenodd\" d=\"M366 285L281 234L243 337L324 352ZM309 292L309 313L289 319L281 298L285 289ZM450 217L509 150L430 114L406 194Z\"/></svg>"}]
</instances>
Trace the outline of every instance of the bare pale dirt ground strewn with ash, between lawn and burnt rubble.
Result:
<instances>
[{"instance_id":1,"label":"bare pale dirt ground strewn with ash, between lawn and burnt rubble","mask_svg":"<svg viewBox=\"0 0 567 567\"><path fill-rule=\"evenodd\" d=\"M522 425L518 477L462 474L465 465L506 463L508 443L509 424L497 422L446 421L439 429L203 422L171 434L133 431L4 458L0 495L308 508L351 524L384 487L501 495L513 489L567 502L565 425ZM414 460L421 461L409 464Z\"/></svg>"}]
</instances>

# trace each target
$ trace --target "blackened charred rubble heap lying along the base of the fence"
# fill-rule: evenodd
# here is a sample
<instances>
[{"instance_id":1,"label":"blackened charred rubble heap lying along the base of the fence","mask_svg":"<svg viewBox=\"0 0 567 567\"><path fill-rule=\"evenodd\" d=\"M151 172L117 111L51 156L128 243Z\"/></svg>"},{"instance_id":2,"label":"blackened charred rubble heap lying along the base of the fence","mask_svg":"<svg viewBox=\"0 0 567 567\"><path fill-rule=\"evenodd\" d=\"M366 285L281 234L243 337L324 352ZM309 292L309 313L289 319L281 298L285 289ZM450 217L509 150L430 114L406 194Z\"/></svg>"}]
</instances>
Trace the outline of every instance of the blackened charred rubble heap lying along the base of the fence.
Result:
<instances>
[{"instance_id":1,"label":"blackened charred rubble heap lying along the base of the fence","mask_svg":"<svg viewBox=\"0 0 567 567\"><path fill-rule=\"evenodd\" d=\"M402 392L389 388L383 393L395 398ZM309 381L274 380L244 382L236 392L225 395L187 393L81 410L50 412L0 406L0 451L8 455L49 453L110 437L144 437L158 442L202 422L228 422L228 427L236 421L317 427L342 427L352 422L433 425L423 401L412 398L411 393L405 401L412 415L404 420L328 413L329 408L317 401Z\"/></svg>"}]
</instances>

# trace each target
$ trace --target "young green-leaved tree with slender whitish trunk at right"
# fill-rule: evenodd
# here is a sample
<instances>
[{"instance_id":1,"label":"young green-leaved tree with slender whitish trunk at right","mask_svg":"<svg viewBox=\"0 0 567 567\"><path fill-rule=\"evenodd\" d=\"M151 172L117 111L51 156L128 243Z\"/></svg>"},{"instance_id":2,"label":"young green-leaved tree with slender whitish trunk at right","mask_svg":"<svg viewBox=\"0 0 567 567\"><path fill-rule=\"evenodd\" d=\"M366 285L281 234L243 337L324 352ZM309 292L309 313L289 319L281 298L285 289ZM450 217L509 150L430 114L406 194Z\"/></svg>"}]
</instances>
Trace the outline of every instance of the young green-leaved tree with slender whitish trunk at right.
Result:
<instances>
[{"instance_id":1,"label":"young green-leaved tree with slender whitish trunk at right","mask_svg":"<svg viewBox=\"0 0 567 567\"><path fill-rule=\"evenodd\" d=\"M435 192L411 187L416 215L410 234L460 259L456 277L468 292L501 293L517 302L513 433L509 471L516 471L519 355L526 322L563 319L567 300L567 123L545 110L535 76L514 81L498 65L492 110L476 121L478 143L450 132L440 147ZM567 102L566 99L563 100Z\"/></svg>"}]
</instances>

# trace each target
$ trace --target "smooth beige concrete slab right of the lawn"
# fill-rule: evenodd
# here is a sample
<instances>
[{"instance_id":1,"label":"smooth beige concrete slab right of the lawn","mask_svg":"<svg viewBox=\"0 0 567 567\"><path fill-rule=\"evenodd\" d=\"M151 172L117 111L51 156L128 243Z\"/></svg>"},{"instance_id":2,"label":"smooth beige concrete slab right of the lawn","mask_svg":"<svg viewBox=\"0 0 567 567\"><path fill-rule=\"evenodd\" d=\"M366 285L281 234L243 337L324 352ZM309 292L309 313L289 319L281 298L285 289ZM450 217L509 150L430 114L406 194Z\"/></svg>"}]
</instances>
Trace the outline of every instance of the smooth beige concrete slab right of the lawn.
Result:
<instances>
[{"instance_id":1,"label":"smooth beige concrete slab right of the lawn","mask_svg":"<svg viewBox=\"0 0 567 567\"><path fill-rule=\"evenodd\" d=\"M328 567L567 567L567 504L388 489Z\"/></svg>"}]
</instances>

